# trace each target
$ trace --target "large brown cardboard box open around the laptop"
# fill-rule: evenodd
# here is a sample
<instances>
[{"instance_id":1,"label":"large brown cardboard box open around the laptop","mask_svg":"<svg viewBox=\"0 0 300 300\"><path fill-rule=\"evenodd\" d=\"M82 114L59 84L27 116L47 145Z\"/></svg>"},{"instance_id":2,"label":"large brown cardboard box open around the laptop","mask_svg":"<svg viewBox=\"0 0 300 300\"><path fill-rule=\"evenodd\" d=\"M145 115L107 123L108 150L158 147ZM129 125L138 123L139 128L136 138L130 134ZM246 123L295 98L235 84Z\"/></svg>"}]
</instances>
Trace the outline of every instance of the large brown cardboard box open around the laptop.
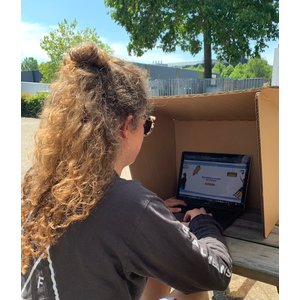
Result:
<instances>
[{"instance_id":1,"label":"large brown cardboard box open around the laptop","mask_svg":"<svg viewBox=\"0 0 300 300\"><path fill-rule=\"evenodd\" d=\"M152 97L153 133L144 139L136 178L162 199L176 193L182 151L252 156L246 207L261 211L267 237L279 218L278 88Z\"/></svg>"}]
</instances>

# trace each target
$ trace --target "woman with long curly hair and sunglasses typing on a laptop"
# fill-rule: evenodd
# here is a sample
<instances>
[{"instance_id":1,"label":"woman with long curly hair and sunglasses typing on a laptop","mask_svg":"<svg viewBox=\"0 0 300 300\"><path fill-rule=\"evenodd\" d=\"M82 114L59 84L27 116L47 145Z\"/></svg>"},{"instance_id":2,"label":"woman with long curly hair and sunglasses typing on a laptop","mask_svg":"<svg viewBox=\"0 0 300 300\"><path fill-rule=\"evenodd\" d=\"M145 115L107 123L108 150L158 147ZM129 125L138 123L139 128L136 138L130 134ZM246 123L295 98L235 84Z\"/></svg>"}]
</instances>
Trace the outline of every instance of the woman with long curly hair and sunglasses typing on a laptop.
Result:
<instances>
[{"instance_id":1,"label":"woman with long curly hair and sunglasses typing on a laptop","mask_svg":"<svg viewBox=\"0 0 300 300\"><path fill-rule=\"evenodd\" d=\"M213 217L188 211L187 227L120 178L154 126L147 89L144 71L93 44L64 58L23 181L23 299L140 299L147 277L180 297L227 287L231 258Z\"/></svg>"}]
</instances>

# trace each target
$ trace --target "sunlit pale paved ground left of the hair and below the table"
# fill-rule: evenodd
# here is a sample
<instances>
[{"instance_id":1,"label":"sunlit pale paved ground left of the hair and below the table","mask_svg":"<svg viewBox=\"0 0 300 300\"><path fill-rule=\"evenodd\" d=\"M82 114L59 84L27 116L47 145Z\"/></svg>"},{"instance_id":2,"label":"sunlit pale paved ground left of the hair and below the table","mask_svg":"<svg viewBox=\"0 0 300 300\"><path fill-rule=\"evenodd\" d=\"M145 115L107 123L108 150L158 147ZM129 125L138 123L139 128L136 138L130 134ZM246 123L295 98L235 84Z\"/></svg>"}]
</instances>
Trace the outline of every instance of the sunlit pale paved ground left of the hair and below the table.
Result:
<instances>
[{"instance_id":1,"label":"sunlit pale paved ground left of the hair and below the table","mask_svg":"<svg viewBox=\"0 0 300 300\"><path fill-rule=\"evenodd\" d=\"M37 119L22 118L22 176L31 165L31 150L35 130L38 128ZM125 170L127 172L127 170ZM126 173L125 173L126 174ZM276 287L242 276L233 275L226 292L210 292L212 300L278 300Z\"/></svg>"}]
</instances>

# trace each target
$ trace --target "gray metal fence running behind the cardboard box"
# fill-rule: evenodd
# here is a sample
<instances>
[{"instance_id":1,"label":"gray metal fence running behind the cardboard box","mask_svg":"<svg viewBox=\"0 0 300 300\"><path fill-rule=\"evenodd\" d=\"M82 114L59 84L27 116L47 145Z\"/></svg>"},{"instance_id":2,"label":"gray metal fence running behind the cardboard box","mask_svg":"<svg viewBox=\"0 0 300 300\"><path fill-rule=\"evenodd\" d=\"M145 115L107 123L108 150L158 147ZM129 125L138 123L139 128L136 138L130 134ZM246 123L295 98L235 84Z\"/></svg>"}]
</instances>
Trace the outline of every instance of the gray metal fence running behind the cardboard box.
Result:
<instances>
[{"instance_id":1,"label":"gray metal fence running behind the cardboard box","mask_svg":"<svg viewBox=\"0 0 300 300\"><path fill-rule=\"evenodd\" d=\"M171 96L260 88L264 83L270 83L270 80L264 78L155 79L150 80L149 85L151 96Z\"/></svg>"}]
</instances>

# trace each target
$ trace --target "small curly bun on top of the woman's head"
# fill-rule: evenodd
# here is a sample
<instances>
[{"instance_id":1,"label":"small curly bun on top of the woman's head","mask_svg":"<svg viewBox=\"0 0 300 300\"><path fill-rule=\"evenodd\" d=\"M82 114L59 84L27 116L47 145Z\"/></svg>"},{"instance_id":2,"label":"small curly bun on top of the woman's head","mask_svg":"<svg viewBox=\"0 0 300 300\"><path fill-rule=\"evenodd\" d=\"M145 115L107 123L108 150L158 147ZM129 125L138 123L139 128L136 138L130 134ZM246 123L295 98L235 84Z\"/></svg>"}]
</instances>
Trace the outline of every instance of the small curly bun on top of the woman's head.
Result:
<instances>
[{"instance_id":1,"label":"small curly bun on top of the woman's head","mask_svg":"<svg viewBox=\"0 0 300 300\"><path fill-rule=\"evenodd\" d=\"M83 43L69 51L71 60L80 67L107 67L108 57L95 43Z\"/></svg>"}]
</instances>

